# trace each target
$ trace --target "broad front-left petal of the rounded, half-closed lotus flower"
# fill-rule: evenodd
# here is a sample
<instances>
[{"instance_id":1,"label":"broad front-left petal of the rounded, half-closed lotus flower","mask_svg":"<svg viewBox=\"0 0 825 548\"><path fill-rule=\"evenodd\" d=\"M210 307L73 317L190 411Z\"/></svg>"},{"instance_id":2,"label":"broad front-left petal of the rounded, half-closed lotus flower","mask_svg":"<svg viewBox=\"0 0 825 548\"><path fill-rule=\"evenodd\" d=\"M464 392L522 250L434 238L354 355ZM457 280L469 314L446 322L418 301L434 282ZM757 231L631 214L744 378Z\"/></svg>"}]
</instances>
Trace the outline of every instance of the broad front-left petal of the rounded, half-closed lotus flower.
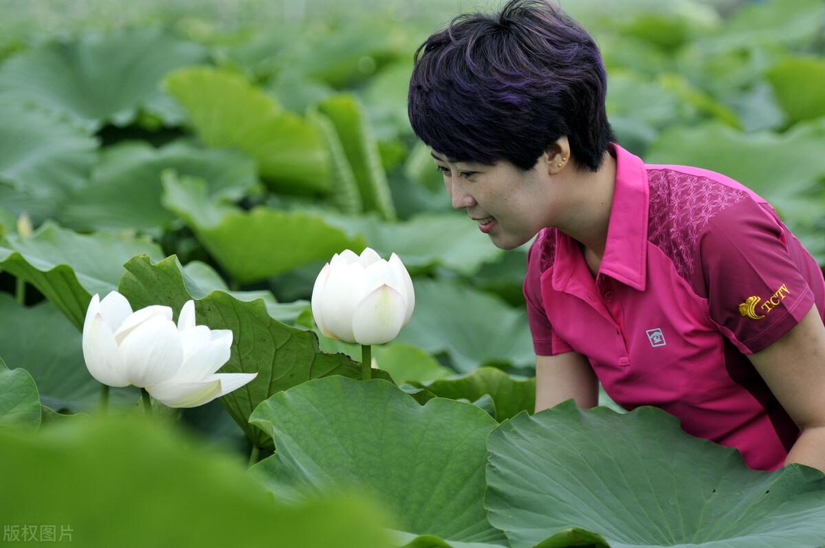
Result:
<instances>
[{"instance_id":1,"label":"broad front-left petal of the rounded, half-closed lotus flower","mask_svg":"<svg viewBox=\"0 0 825 548\"><path fill-rule=\"evenodd\" d=\"M321 297L321 316L328 332L337 339L355 342L352 314L361 298L361 265L332 265Z\"/></svg>"}]
</instances>

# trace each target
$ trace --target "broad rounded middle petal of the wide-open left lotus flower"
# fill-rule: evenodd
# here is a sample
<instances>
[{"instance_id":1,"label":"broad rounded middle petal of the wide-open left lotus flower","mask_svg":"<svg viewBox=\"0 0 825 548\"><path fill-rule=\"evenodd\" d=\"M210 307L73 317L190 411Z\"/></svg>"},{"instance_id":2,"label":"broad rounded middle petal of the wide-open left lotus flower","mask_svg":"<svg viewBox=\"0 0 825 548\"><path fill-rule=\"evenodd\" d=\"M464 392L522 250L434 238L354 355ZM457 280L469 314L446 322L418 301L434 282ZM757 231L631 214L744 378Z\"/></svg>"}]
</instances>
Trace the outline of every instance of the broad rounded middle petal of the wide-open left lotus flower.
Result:
<instances>
[{"instance_id":1,"label":"broad rounded middle petal of the wide-open left lotus flower","mask_svg":"<svg viewBox=\"0 0 825 548\"><path fill-rule=\"evenodd\" d=\"M171 379L183 362L177 326L164 316L151 317L126 335L120 356L134 386L155 386Z\"/></svg>"}]
</instances>

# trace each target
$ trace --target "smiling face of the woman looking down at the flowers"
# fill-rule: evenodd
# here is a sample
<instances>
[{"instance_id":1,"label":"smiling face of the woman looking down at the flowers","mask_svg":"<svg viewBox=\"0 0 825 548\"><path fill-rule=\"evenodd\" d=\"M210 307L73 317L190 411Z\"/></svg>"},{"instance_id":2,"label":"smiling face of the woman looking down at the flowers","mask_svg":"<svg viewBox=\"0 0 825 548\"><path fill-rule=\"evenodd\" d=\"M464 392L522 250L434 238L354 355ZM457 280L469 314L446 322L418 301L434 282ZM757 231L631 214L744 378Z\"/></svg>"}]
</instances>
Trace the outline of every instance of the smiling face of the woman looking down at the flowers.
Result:
<instances>
[{"instance_id":1,"label":"smiling face of the woman looking down at the flowers","mask_svg":"<svg viewBox=\"0 0 825 548\"><path fill-rule=\"evenodd\" d=\"M469 222L480 224L495 218L488 236L501 249L514 249L549 226L558 208L553 181L548 175L546 155L530 171L519 171L507 161L494 166L450 162L441 152L432 151L436 166L444 174L444 185L453 207L466 209Z\"/></svg>"}]
</instances>

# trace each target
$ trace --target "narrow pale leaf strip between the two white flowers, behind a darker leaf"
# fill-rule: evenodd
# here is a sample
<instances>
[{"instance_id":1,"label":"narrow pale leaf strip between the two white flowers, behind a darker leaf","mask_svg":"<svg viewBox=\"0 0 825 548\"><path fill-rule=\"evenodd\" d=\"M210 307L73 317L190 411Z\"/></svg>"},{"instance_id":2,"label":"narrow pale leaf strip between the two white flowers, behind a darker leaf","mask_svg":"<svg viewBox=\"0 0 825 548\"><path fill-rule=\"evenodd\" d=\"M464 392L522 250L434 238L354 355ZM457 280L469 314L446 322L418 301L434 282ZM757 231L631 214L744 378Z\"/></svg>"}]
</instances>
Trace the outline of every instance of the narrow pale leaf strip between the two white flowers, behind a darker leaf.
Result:
<instances>
[{"instance_id":1,"label":"narrow pale leaf strip between the two white flowers, behind a darker leaf","mask_svg":"<svg viewBox=\"0 0 825 548\"><path fill-rule=\"evenodd\" d=\"M298 317L310 309L309 301L298 300L295 302L277 302L271 291L259 289L256 291L230 291L224 279L214 271L214 269L197 260L187 263L183 267L183 278L186 283L186 290L196 298L205 297L213 291L223 291L229 293L238 301L254 301L263 299L266 305L266 312L277 321L282 321L290 326L295 325Z\"/></svg>"}]
</instances>

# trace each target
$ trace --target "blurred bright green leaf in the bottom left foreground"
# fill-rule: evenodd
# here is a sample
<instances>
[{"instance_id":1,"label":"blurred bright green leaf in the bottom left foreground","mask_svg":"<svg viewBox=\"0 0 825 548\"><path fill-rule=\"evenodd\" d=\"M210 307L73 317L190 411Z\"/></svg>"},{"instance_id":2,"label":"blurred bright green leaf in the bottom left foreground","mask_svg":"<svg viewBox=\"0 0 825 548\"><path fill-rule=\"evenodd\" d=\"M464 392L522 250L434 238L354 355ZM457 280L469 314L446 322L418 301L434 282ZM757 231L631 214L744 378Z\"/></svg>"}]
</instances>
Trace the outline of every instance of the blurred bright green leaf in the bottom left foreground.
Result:
<instances>
[{"instance_id":1,"label":"blurred bright green leaf in the bottom left foreground","mask_svg":"<svg viewBox=\"0 0 825 548\"><path fill-rule=\"evenodd\" d=\"M284 504L238 459L140 416L0 433L0 447L3 521L38 524L38 537L41 523L52 524L59 544L390 546L380 527L388 518L375 503L350 494Z\"/></svg>"}]
</instances>

